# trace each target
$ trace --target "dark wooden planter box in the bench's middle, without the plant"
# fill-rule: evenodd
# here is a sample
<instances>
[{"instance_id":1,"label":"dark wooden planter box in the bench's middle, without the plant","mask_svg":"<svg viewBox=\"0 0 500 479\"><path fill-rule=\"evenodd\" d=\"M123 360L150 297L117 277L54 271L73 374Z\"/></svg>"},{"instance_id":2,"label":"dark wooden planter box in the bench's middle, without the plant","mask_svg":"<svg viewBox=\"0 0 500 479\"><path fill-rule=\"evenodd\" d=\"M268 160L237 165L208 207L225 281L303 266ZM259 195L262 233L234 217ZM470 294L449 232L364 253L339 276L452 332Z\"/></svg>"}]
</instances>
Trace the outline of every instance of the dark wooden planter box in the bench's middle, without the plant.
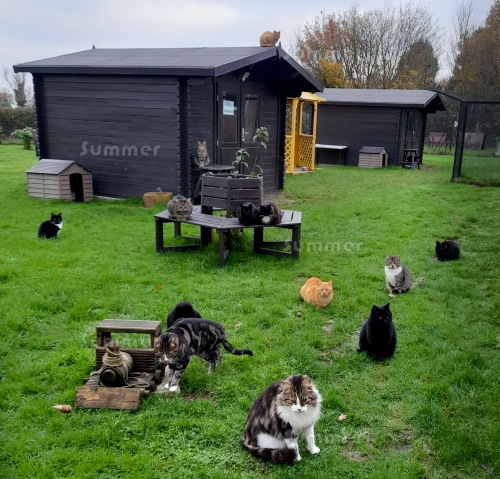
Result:
<instances>
[{"instance_id":1,"label":"dark wooden planter box in the bench's middle, without the plant","mask_svg":"<svg viewBox=\"0 0 500 479\"><path fill-rule=\"evenodd\" d=\"M226 210L227 216L247 201L255 206L262 203L262 176L250 177L238 175L202 176L201 206L206 209Z\"/></svg>"}]
</instances>

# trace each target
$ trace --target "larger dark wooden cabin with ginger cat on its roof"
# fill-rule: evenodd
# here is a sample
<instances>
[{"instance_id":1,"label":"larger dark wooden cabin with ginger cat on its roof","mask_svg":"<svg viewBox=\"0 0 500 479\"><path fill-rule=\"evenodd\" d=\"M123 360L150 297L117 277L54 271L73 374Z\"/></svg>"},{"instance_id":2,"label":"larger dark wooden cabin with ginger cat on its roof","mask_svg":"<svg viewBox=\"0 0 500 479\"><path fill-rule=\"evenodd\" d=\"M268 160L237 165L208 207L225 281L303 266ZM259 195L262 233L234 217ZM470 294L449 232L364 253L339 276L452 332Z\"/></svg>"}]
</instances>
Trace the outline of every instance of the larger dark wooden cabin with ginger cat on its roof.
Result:
<instances>
[{"instance_id":1,"label":"larger dark wooden cabin with ginger cat on its roof","mask_svg":"<svg viewBox=\"0 0 500 479\"><path fill-rule=\"evenodd\" d=\"M281 188L286 98L323 88L281 46L91 49L14 69L33 74L40 156L77 161L115 197L190 196L198 142L210 164L247 148L264 189Z\"/></svg>"}]
</instances>

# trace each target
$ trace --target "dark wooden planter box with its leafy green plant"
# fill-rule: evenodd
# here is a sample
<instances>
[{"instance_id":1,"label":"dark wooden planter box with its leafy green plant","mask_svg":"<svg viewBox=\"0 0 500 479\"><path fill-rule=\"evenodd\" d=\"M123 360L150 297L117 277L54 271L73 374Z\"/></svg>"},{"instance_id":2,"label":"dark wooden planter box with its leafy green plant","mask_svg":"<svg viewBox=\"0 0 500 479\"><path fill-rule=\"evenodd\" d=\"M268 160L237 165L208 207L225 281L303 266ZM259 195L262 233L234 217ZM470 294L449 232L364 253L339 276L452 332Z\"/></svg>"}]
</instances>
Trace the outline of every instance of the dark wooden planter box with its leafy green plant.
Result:
<instances>
[{"instance_id":1,"label":"dark wooden planter box with its leafy green plant","mask_svg":"<svg viewBox=\"0 0 500 479\"><path fill-rule=\"evenodd\" d=\"M255 130L253 141L267 148L269 132L262 126ZM231 175L218 175L206 173L202 177L201 205L207 211L212 208L226 210L228 216L241 204L250 201L256 206L262 202L262 168L257 165L256 155L253 164L249 166L250 154L246 148L236 152L233 165L235 171ZM245 174L245 168L249 170Z\"/></svg>"}]
</instances>

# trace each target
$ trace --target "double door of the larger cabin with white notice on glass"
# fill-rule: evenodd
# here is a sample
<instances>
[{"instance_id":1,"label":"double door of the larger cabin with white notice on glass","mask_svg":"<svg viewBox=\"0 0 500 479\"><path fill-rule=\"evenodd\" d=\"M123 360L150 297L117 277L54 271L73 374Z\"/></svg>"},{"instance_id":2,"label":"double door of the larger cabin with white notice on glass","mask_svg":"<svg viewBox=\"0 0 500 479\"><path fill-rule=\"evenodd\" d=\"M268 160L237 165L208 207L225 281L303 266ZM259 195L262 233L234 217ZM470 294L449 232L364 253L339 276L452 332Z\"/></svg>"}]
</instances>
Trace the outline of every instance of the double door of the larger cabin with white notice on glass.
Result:
<instances>
[{"instance_id":1,"label":"double door of the larger cabin with white notice on glass","mask_svg":"<svg viewBox=\"0 0 500 479\"><path fill-rule=\"evenodd\" d=\"M259 126L260 98L258 92L245 82L218 85L218 158L219 163L231 165L239 148L250 154L247 163L259 164L259 144L253 141ZM245 170L248 173L248 170Z\"/></svg>"}]
</instances>

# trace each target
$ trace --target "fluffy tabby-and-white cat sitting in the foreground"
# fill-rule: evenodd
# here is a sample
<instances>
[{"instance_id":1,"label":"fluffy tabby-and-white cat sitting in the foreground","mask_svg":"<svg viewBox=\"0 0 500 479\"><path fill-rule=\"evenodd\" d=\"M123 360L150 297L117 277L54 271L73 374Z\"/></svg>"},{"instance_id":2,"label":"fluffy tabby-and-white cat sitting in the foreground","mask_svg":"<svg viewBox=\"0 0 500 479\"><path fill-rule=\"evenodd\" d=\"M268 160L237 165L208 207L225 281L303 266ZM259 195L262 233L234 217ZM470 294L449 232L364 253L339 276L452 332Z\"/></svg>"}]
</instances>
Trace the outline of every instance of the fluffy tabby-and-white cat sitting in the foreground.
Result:
<instances>
[{"instance_id":1,"label":"fluffy tabby-and-white cat sitting in the foreground","mask_svg":"<svg viewBox=\"0 0 500 479\"><path fill-rule=\"evenodd\" d=\"M258 458L277 464L300 461L298 436L311 454L318 454L314 425L321 415L321 395L311 378L294 374L271 384L248 413L243 447Z\"/></svg>"}]
</instances>

